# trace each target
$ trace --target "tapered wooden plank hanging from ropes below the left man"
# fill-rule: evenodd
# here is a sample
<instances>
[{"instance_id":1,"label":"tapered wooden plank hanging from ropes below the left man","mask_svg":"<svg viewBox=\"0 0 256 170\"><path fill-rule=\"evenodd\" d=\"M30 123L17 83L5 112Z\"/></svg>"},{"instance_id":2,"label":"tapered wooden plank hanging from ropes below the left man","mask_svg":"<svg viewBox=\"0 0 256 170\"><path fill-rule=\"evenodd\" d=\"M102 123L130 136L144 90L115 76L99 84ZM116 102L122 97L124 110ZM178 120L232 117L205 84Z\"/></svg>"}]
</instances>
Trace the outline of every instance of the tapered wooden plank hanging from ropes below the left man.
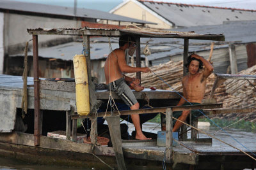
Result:
<instances>
[{"instance_id":1,"label":"tapered wooden plank hanging from ropes below the left man","mask_svg":"<svg viewBox=\"0 0 256 170\"><path fill-rule=\"evenodd\" d=\"M120 116L106 117L108 122L111 142L116 155L116 162L119 170L125 170L124 154L122 148Z\"/></svg>"}]
</instances>

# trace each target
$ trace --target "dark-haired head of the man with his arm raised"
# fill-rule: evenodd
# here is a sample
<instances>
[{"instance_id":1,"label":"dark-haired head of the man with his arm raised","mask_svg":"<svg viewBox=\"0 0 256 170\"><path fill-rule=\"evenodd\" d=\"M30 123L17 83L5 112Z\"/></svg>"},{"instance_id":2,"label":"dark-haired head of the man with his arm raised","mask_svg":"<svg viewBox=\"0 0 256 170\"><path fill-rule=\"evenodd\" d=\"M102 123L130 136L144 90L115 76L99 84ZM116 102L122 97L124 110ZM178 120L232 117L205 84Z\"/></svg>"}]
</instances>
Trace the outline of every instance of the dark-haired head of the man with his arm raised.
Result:
<instances>
[{"instance_id":1,"label":"dark-haired head of the man with his arm raised","mask_svg":"<svg viewBox=\"0 0 256 170\"><path fill-rule=\"evenodd\" d=\"M198 73L198 71L200 71L200 69L203 68L203 62L193 57L193 55L196 55L196 54L192 53L191 55L189 55L188 64L186 64L186 67L190 74L196 74Z\"/></svg>"}]
</instances>

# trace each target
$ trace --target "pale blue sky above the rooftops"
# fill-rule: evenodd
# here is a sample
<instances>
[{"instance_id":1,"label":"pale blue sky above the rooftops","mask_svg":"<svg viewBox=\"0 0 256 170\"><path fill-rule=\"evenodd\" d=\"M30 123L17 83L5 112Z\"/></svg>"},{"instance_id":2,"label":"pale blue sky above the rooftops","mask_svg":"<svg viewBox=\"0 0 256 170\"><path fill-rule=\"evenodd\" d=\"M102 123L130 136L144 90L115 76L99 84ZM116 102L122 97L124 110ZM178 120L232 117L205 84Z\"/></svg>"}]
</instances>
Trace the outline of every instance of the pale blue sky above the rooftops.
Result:
<instances>
[{"instance_id":1,"label":"pale blue sky above the rooftops","mask_svg":"<svg viewBox=\"0 0 256 170\"><path fill-rule=\"evenodd\" d=\"M51 4L57 6L74 7L75 0L15 0L30 3ZM205 6L220 6L256 10L256 0L152 0L168 3L200 4ZM110 11L123 0L77 0L77 8L88 8L100 11Z\"/></svg>"}]
</instances>

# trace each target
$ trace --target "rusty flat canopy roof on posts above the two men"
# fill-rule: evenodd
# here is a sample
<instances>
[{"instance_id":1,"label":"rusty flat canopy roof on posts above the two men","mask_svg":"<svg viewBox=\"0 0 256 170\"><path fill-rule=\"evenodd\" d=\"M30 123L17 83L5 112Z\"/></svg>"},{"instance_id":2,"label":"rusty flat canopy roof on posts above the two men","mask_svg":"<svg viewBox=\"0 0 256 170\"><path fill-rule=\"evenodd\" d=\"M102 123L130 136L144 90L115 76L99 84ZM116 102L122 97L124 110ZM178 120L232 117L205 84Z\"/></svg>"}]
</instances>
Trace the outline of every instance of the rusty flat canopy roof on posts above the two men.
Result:
<instances>
[{"instance_id":1,"label":"rusty flat canopy roof on posts above the two men","mask_svg":"<svg viewBox=\"0 0 256 170\"><path fill-rule=\"evenodd\" d=\"M134 34L141 38L188 38L188 39L206 39L225 41L223 34L197 34L195 32L179 32L179 31L165 31L162 29L141 29L131 27L127 29L99 29L83 27L79 29L28 29L29 34L54 34L54 35L89 35L89 36L120 36L120 34Z\"/></svg>"}]
</instances>

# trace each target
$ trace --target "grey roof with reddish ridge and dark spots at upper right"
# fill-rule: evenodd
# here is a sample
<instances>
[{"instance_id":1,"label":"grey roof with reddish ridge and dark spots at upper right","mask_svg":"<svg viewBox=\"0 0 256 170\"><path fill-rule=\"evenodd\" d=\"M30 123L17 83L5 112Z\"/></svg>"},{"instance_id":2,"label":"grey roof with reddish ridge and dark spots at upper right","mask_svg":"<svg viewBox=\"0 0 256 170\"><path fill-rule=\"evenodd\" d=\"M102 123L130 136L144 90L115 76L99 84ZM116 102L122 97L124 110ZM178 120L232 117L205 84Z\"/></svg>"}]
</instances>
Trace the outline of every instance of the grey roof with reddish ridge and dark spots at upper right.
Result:
<instances>
[{"instance_id":1,"label":"grey roof with reddish ridge and dark spots at upper right","mask_svg":"<svg viewBox=\"0 0 256 170\"><path fill-rule=\"evenodd\" d=\"M191 4L139 1L177 27L217 25L224 21L255 20L255 10L217 8Z\"/></svg>"}]
</instances>

